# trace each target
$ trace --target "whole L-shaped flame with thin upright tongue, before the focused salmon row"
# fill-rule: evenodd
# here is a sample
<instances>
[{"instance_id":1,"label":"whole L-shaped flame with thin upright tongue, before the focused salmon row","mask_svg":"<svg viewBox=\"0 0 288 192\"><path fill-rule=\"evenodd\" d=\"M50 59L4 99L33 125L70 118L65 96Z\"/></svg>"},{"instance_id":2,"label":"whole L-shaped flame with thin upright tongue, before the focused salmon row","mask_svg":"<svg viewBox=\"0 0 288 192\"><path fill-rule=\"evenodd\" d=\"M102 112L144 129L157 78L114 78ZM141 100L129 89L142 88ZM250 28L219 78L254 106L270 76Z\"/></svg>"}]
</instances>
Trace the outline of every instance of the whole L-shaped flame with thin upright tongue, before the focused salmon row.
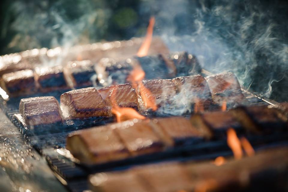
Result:
<instances>
[{"instance_id":1,"label":"whole L-shaped flame with thin upright tongue, before the focused salmon row","mask_svg":"<svg viewBox=\"0 0 288 192\"><path fill-rule=\"evenodd\" d=\"M111 112L116 115L117 122L123 122L129 119L146 119L145 116L140 115L136 110L130 107L119 107L116 102L116 91L112 89L110 92L110 101L112 105Z\"/></svg>"}]
</instances>

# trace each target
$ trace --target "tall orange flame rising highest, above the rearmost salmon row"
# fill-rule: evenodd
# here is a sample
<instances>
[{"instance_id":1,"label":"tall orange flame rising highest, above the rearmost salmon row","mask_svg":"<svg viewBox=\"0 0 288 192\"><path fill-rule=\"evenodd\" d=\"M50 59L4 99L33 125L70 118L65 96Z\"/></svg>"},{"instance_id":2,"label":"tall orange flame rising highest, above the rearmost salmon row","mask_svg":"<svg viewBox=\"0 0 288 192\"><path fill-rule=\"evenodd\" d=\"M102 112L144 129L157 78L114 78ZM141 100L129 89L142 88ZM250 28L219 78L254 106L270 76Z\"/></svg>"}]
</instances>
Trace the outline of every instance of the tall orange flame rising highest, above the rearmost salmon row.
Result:
<instances>
[{"instance_id":1,"label":"tall orange flame rising highest, above the rearmost salmon row","mask_svg":"<svg viewBox=\"0 0 288 192\"><path fill-rule=\"evenodd\" d=\"M138 57L144 57L148 53L148 50L149 50L149 47L150 47L151 41L152 41L154 24L155 24L155 17L151 17L149 20L149 25L147 28L145 40L143 41L141 47L139 48L139 50L137 52Z\"/></svg>"}]
</instances>

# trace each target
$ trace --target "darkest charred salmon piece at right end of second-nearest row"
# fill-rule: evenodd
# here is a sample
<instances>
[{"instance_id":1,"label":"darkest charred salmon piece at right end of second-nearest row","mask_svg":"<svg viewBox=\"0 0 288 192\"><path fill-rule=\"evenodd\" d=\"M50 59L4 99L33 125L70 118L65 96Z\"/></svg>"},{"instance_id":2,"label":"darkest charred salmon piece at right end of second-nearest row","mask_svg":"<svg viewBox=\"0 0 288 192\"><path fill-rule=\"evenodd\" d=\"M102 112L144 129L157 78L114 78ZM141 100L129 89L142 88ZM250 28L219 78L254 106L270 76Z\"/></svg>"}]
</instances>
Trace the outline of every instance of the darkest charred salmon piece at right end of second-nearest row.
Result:
<instances>
[{"instance_id":1,"label":"darkest charred salmon piece at right end of second-nearest row","mask_svg":"<svg viewBox=\"0 0 288 192\"><path fill-rule=\"evenodd\" d=\"M287 128L287 116L271 106L238 107L235 117L250 130L263 134L281 132Z\"/></svg>"}]
</instances>

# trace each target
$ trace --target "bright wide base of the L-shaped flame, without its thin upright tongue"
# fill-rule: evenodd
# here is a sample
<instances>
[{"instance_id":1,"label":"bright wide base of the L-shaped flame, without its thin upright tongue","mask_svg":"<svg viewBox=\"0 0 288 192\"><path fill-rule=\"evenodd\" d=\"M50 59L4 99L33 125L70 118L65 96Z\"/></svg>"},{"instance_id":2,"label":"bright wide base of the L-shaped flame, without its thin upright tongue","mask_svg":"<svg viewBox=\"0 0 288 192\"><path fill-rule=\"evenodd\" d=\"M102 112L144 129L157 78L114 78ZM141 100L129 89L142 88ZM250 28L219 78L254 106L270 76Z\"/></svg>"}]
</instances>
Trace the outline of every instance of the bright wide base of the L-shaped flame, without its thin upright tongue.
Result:
<instances>
[{"instance_id":1,"label":"bright wide base of the L-shaped flame, without its thin upright tongue","mask_svg":"<svg viewBox=\"0 0 288 192\"><path fill-rule=\"evenodd\" d=\"M130 107L112 107L112 113L116 115L117 122L123 122L129 119L146 119L146 117L140 115L136 110Z\"/></svg>"}]
</instances>

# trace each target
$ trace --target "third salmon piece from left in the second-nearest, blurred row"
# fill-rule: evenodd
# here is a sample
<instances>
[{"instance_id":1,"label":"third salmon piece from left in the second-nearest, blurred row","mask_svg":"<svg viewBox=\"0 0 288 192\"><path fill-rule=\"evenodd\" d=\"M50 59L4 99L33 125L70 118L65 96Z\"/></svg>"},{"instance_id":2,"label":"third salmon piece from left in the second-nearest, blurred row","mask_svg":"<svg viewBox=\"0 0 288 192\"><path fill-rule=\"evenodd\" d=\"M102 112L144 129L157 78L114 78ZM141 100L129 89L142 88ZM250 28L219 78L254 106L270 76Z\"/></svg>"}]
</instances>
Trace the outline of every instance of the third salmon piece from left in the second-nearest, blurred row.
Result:
<instances>
[{"instance_id":1,"label":"third salmon piece from left in the second-nearest, blurred row","mask_svg":"<svg viewBox=\"0 0 288 192\"><path fill-rule=\"evenodd\" d=\"M204 136L193 127L189 119L184 117L154 119L151 125L155 132L161 135L163 140L170 144L170 146L197 143L203 140L204 137L210 137L210 135Z\"/></svg>"}]
</instances>

